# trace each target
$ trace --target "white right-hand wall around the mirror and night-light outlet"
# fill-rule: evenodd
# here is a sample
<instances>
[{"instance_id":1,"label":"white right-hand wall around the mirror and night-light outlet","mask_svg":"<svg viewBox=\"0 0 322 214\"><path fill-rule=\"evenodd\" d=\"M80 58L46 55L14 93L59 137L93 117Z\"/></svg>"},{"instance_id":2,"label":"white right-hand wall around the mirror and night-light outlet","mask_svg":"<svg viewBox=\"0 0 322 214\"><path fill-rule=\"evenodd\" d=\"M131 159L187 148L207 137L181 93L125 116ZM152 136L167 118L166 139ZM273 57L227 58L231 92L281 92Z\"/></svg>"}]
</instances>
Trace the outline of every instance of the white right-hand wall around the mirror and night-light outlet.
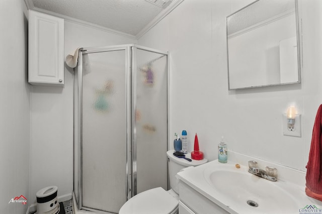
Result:
<instances>
[{"instance_id":1,"label":"white right-hand wall around the mirror and night-light outlet","mask_svg":"<svg viewBox=\"0 0 322 214\"><path fill-rule=\"evenodd\" d=\"M198 133L200 150L214 160L224 136L232 151L305 170L316 110L322 103L322 2L300 1L300 84L228 91L225 17L251 2L186 0L138 43L170 51L172 139L186 129L192 150ZM282 114L292 103L302 115L300 138L282 135Z\"/></svg>"}]
</instances>

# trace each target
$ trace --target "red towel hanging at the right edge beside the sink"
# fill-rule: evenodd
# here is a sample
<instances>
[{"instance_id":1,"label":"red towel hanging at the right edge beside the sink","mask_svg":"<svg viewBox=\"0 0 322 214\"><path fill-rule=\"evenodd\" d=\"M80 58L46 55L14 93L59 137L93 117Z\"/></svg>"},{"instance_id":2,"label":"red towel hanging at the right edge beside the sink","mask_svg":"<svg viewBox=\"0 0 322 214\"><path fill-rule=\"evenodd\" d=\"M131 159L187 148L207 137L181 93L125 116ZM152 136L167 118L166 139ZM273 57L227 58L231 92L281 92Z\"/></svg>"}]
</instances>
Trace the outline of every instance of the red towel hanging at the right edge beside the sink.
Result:
<instances>
[{"instance_id":1,"label":"red towel hanging at the right edge beside the sink","mask_svg":"<svg viewBox=\"0 0 322 214\"><path fill-rule=\"evenodd\" d=\"M305 193L313 198L322 200L322 104L319 106L311 140L311 148L306 165L306 188Z\"/></svg>"}]
</instances>

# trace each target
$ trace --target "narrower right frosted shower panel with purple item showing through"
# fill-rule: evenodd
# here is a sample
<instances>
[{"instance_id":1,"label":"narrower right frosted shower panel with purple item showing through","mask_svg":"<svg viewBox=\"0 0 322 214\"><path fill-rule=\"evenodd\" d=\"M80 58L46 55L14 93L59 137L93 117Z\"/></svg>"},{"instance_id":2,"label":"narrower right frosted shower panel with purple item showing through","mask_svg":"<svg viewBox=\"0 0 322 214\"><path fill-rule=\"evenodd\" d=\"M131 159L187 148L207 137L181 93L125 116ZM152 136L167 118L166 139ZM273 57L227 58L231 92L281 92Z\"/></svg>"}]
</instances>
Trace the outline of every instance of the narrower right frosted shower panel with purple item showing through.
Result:
<instances>
[{"instance_id":1,"label":"narrower right frosted shower panel with purple item showing through","mask_svg":"<svg viewBox=\"0 0 322 214\"><path fill-rule=\"evenodd\" d=\"M168 188L167 56L136 51L137 193Z\"/></svg>"}]
</instances>

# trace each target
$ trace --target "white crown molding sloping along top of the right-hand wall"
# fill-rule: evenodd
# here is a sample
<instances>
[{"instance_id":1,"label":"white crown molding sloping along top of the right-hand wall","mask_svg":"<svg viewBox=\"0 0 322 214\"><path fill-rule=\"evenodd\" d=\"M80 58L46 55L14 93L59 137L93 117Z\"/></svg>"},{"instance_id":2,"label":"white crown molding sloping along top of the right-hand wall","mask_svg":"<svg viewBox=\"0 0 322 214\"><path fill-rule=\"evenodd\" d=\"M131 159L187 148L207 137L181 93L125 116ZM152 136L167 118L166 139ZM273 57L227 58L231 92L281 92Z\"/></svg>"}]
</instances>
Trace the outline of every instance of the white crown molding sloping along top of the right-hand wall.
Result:
<instances>
[{"instance_id":1,"label":"white crown molding sloping along top of the right-hand wall","mask_svg":"<svg viewBox=\"0 0 322 214\"><path fill-rule=\"evenodd\" d=\"M153 28L158 22L163 20L170 12L177 8L185 0L173 0L172 3L161 13L159 13L149 24L147 24L139 33L136 34L136 40L140 39L145 33Z\"/></svg>"}]
</instances>

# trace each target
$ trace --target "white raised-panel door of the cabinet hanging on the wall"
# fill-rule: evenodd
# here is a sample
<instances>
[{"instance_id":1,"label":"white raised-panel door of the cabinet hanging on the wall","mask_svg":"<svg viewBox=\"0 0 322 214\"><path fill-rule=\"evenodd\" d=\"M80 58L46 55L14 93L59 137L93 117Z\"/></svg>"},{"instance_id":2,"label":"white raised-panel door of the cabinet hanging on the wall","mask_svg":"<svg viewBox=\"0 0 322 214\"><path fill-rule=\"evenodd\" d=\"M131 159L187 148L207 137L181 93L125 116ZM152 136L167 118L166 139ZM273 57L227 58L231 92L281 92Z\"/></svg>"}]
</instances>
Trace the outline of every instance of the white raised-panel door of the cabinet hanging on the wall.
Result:
<instances>
[{"instance_id":1,"label":"white raised-panel door of the cabinet hanging on the wall","mask_svg":"<svg viewBox=\"0 0 322 214\"><path fill-rule=\"evenodd\" d=\"M64 84L64 20L29 11L29 83Z\"/></svg>"}]
</instances>

